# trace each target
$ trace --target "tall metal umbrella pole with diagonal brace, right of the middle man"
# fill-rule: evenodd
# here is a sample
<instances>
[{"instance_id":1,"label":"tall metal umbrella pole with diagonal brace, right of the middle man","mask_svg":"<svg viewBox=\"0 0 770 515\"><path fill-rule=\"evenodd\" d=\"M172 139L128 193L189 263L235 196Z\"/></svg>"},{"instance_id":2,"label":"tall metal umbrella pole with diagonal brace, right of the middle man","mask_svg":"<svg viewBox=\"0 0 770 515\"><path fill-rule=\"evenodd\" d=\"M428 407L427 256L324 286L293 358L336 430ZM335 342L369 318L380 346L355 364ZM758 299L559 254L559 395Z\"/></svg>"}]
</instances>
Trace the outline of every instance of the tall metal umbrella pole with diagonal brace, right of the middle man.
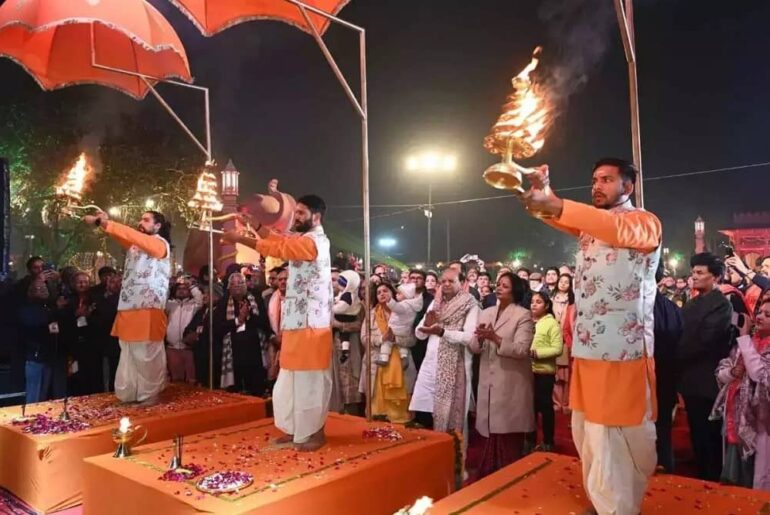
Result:
<instances>
[{"instance_id":1,"label":"tall metal umbrella pole with diagonal brace, right of the middle man","mask_svg":"<svg viewBox=\"0 0 770 515\"><path fill-rule=\"evenodd\" d=\"M368 110L368 99L366 94L366 90L367 90L366 31L362 27L359 27L357 25L353 25L352 23L341 20L336 16L333 16L327 12L324 12L310 5L306 5L298 0L286 0L286 1L293 5L296 5L299 8L303 18L305 18L305 22L307 23L308 27L310 27L310 30L313 34L313 38L316 40L316 43L318 43L318 46L321 49L321 52L326 58L326 61L329 63L329 66L334 72L334 75L337 77L337 80L342 86L342 89L345 91L345 94L348 96L350 103L353 105L355 110L358 112L358 116L361 118L361 182L362 182L361 194L363 197L363 205L364 205L364 269L368 273L368 271L371 270L371 267L372 267L372 263L371 263L372 258L371 258L371 241L370 241L370 225L369 225L369 110ZM318 33L318 29L316 28L313 21L310 19L310 16L308 15L308 11L318 14L320 16L323 16L328 20L331 20L346 28L349 28L358 32L359 64L360 64L360 73L361 73L361 102L360 103L358 99L356 99L355 93L353 93L352 88L348 84L348 81L345 79L345 76L342 74L342 71L340 70L339 66L337 66L337 62L334 60L334 57L329 51L329 48L326 46L326 43L324 43L323 38ZM368 280L366 276L365 276L365 280ZM372 289L369 288L368 286L366 288L366 297L365 297L364 303L365 303L365 306L364 306L365 326L364 327L366 328L366 332L365 332L366 337L364 338L365 341L362 343L364 345L364 356L365 356L364 362L366 363L366 370L364 371L364 373L366 374L366 378L365 378L366 419L368 421L371 421L372 420L372 373L371 373L372 349L371 349L370 342L371 342L371 333L372 333L372 327L371 327Z\"/></svg>"}]
</instances>

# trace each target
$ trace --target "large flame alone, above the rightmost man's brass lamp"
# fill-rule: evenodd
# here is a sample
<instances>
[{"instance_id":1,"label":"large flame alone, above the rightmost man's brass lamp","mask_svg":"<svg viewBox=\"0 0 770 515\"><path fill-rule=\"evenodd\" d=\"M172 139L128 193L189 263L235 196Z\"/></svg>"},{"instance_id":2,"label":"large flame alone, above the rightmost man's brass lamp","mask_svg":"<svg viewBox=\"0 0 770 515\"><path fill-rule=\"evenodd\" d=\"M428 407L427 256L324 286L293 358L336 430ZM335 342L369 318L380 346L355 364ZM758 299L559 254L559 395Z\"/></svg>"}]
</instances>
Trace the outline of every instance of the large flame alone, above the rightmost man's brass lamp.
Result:
<instances>
[{"instance_id":1,"label":"large flame alone, above the rightmost man's brass lamp","mask_svg":"<svg viewBox=\"0 0 770 515\"><path fill-rule=\"evenodd\" d=\"M545 144L545 132L551 121L551 107L542 87L530 75L537 68L542 47L532 53L532 60L511 80L513 93L503 106L503 113L484 140L484 146L495 154L511 148L513 157L534 155Z\"/></svg>"}]
</instances>

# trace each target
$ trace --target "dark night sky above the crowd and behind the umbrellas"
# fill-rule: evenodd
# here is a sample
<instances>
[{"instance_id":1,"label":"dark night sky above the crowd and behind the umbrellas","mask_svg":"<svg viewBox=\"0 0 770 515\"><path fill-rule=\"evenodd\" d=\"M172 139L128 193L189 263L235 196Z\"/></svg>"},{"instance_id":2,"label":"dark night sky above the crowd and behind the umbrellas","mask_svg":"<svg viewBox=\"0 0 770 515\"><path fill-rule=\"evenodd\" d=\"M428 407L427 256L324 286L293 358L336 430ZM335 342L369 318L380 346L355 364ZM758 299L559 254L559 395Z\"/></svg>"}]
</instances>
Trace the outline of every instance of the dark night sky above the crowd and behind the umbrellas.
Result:
<instances>
[{"instance_id":1,"label":"dark night sky above the crowd and behind the umbrellas","mask_svg":"<svg viewBox=\"0 0 770 515\"><path fill-rule=\"evenodd\" d=\"M360 209L342 207L361 201L360 126L312 37L282 23L252 22L207 39L165 0L152 3L179 32L196 82L212 89L215 155L222 165L233 159L241 191L262 191L277 177L295 195L324 197L329 221L361 234ZM573 12L580 4L591 5L591 17ZM496 160L482 140L510 78L541 44L543 67L566 67L565 87L573 91L561 92L571 93L568 102L542 152L526 164L548 163L558 189L590 184L591 165L600 157L630 158L627 71L611 4L352 0L341 16L365 27L369 44L372 204L426 201L426 178L404 166L410 151L426 147L451 151L459 163L453 176L434 180L435 202L500 194L481 179ZM694 0L635 4L646 177L770 161L770 2L745 0L740 8ZM332 26L325 39L358 91L355 35ZM44 93L8 60L0 60L0 78L0 94L9 101L83 95L92 99L83 113L91 125L112 123L117 111L162 120L177 131L151 97L137 103L90 86ZM199 130L199 97L168 86L163 91ZM179 144L196 152L181 132ZM716 229L729 226L732 213L767 209L768 170L651 181L646 207L662 219L665 245L687 255L698 215L716 241ZM588 193L564 195L587 201ZM453 256L496 261L522 249L532 252L533 263L552 264L572 249L567 237L529 218L516 200L491 200L436 208L435 260L446 258L448 221ZM421 211L372 220L373 244L382 236L396 238L393 254L405 261L425 259L425 233Z\"/></svg>"}]
</instances>

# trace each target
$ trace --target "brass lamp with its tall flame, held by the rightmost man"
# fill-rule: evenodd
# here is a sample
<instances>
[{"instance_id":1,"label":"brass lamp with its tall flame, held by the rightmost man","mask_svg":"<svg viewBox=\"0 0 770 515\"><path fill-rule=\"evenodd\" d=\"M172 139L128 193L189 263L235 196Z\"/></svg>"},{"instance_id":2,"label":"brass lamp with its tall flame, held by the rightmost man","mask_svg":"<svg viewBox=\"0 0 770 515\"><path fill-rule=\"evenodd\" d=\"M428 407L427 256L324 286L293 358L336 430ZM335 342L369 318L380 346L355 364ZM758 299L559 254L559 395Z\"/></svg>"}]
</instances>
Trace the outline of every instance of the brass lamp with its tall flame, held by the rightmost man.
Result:
<instances>
[{"instance_id":1,"label":"brass lamp with its tall flame, held by the rightmost man","mask_svg":"<svg viewBox=\"0 0 770 515\"><path fill-rule=\"evenodd\" d=\"M551 123L551 107L546 92L533 82L530 75L537 68L541 47L532 54L530 63L514 77L513 93L503 106L503 113L484 139L484 148L492 154L502 156L497 163L484 172L484 180L498 189L524 193L523 176L533 170L525 168L513 159L532 157L543 148L545 133Z\"/></svg>"}]
</instances>

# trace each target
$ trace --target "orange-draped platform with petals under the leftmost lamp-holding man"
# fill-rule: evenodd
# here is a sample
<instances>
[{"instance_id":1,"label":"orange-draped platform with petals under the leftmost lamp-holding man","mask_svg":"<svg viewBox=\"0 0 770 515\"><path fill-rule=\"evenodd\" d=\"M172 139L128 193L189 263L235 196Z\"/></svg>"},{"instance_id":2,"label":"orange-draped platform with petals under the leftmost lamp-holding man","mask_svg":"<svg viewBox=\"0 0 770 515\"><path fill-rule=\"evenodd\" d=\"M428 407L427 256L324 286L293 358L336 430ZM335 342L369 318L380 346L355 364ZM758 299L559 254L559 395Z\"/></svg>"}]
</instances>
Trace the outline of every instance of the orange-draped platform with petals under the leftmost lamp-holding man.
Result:
<instances>
[{"instance_id":1,"label":"orange-draped platform with petals under the leftmost lamp-holding man","mask_svg":"<svg viewBox=\"0 0 770 515\"><path fill-rule=\"evenodd\" d=\"M27 415L59 415L61 402L27 406ZM77 433L31 435L12 420L20 407L0 410L0 486L35 509L49 513L80 504L83 493L83 458L114 451L111 431L121 417L148 429L148 442L170 440L177 433L242 424L265 417L265 402L226 392L172 385L160 404L123 406L112 394L73 397L70 416L91 427Z\"/></svg>"}]
</instances>

